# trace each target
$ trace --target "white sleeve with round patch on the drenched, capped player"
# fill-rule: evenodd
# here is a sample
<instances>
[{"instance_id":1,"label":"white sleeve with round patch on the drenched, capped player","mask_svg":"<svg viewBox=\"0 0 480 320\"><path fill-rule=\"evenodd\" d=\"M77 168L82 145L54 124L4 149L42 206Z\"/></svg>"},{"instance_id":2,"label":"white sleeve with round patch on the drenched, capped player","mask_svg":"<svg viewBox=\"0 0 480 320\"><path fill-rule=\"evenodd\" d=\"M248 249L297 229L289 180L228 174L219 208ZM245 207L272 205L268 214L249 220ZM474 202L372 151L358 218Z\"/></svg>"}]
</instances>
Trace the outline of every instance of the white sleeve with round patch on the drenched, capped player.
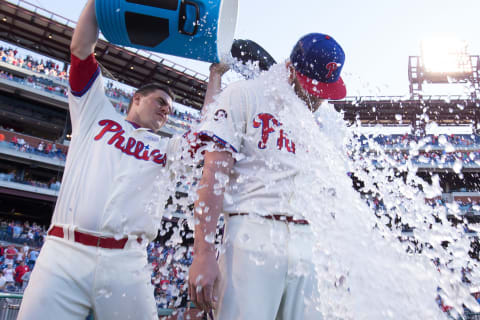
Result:
<instances>
[{"instance_id":1,"label":"white sleeve with round patch on the drenched, capped player","mask_svg":"<svg viewBox=\"0 0 480 320\"><path fill-rule=\"evenodd\" d=\"M206 108L205 116L196 129L196 137L239 152L246 130L246 91L233 84Z\"/></svg>"}]
</instances>

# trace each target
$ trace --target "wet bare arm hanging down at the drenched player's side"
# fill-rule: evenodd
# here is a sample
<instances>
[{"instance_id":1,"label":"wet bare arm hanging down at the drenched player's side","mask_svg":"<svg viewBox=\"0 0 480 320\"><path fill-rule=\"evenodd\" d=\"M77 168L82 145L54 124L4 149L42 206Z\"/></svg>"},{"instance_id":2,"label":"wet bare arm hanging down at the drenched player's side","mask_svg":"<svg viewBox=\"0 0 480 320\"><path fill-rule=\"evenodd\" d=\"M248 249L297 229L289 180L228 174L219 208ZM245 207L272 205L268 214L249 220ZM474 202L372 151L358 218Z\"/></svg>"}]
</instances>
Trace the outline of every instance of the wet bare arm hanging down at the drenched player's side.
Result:
<instances>
[{"instance_id":1,"label":"wet bare arm hanging down at the drenched player's side","mask_svg":"<svg viewBox=\"0 0 480 320\"><path fill-rule=\"evenodd\" d=\"M229 176L233 157L228 151L206 152L202 179L195 202L194 259L189 271L190 299L204 311L214 308L218 296L214 290L220 271L215 250L218 217L223 209L224 188L219 186L218 175Z\"/></svg>"}]
</instances>

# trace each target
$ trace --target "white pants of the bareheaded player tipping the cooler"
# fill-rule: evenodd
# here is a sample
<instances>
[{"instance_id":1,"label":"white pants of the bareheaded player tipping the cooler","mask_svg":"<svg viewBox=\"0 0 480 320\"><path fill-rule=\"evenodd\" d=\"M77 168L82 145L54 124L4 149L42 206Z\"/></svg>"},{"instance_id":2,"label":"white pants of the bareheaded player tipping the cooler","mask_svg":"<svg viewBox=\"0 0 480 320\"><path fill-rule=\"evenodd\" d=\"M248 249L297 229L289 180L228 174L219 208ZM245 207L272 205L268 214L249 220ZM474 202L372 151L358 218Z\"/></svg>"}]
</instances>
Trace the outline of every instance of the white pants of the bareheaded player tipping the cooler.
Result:
<instances>
[{"instance_id":1,"label":"white pants of the bareheaded player tipping the cooler","mask_svg":"<svg viewBox=\"0 0 480 320\"><path fill-rule=\"evenodd\" d=\"M96 320L158 320L146 255L135 240L103 249L48 236L17 319L85 320L93 310Z\"/></svg>"}]
</instances>

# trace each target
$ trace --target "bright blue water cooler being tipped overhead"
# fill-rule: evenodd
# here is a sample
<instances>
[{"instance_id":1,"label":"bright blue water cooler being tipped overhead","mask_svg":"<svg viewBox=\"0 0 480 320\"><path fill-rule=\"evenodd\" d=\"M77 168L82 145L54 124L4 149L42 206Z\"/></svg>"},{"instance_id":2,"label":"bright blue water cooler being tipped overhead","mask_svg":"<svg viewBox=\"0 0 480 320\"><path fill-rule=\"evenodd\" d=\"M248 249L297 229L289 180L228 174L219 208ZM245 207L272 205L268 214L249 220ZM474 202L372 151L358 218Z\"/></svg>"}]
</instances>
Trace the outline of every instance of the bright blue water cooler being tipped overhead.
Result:
<instances>
[{"instance_id":1,"label":"bright blue water cooler being tipped overhead","mask_svg":"<svg viewBox=\"0 0 480 320\"><path fill-rule=\"evenodd\" d=\"M219 62L232 47L238 0L96 0L95 9L114 44Z\"/></svg>"}]
</instances>

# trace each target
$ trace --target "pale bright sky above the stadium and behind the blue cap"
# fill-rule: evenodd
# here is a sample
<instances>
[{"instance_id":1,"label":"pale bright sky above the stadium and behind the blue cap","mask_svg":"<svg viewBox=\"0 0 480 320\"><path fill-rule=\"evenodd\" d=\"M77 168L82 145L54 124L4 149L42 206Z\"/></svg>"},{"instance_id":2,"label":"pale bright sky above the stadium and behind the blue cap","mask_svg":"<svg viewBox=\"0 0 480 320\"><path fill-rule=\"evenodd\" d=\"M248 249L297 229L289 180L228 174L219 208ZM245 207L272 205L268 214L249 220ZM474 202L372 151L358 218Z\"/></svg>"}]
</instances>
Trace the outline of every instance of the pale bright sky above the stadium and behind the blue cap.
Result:
<instances>
[{"instance_id":1,"label":"pale bright sky above the stadium and behind the blue cap","mask_svg":"<svg viewBox=\"0 0 480 320\"><path fill-rule=\"evenodd\" d=\"M30 1L72 20L86 2ZM480 54L478 12L479 0L239 0L235 37L258 42L282 61L303 34L328 33L346 52L348 95L405 95L408 56L420 54L422 39L448 32ZM208 72L207 63L169 58Z\"/></svg>"}]
</instances>

